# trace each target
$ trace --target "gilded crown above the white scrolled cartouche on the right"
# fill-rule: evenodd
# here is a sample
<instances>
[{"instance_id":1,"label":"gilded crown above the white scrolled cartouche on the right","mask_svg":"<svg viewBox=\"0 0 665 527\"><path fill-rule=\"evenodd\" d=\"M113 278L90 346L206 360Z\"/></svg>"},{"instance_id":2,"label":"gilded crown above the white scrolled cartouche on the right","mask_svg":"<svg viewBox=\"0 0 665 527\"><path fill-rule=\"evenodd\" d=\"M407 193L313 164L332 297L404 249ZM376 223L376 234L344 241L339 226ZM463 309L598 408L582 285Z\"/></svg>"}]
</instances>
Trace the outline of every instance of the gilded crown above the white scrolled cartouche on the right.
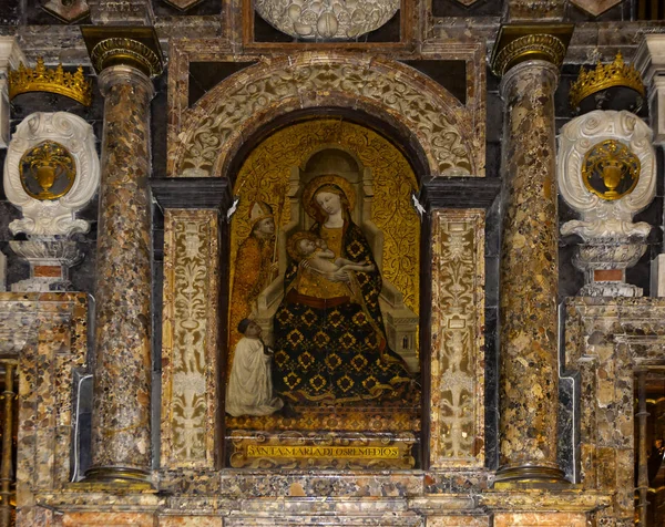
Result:
<instances>
[{"instance_id":1,"label":"gilded crown above the white scrolled cartouche on the right","mask_svg":"<svg viewBox=\"0 0 665 527\"><path fill-rule=\"evenodd\" d=\"M580 76L571 86L569 95L571 106L577 108L589 95L612 86L626 86L642 96L646 94L640 72L624 62L621 52L611 64L602 64L598 61L595 70L586 71L584 68L580 70Z\"/></svg>"}]
</instances>

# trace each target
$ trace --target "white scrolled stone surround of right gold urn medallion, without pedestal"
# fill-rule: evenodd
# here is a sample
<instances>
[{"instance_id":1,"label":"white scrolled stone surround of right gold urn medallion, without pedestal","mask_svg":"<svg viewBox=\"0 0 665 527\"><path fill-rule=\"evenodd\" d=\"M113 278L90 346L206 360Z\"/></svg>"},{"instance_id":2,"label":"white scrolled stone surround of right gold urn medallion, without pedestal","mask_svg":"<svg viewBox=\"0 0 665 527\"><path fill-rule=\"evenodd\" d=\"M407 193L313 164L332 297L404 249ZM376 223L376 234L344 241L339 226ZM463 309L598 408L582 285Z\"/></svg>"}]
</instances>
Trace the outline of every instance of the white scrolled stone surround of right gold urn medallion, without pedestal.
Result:
<instances>
[{"instance_id":1,"label":"white scrolled stone surround of right gold urn medallion, without pedestal","mask_svg":"<svg viewBox=\"0 0 665 527\"><path fill-rule=\"evenodd\" d=\"M616 140L630 147L641 164L640 182L634 190L613 202L591 193L582 179L582 163L598 142ZM646 224L633 224L633 216L643 210L656 192L655 154L652 131L630 112L595 111L574 118L563 126L559 137L559 188L565 202L582 214L582 221L569 221L562 234L580 234L590 239L600 236L631 236L648 232Z\"/></svg>"}]
</instances>

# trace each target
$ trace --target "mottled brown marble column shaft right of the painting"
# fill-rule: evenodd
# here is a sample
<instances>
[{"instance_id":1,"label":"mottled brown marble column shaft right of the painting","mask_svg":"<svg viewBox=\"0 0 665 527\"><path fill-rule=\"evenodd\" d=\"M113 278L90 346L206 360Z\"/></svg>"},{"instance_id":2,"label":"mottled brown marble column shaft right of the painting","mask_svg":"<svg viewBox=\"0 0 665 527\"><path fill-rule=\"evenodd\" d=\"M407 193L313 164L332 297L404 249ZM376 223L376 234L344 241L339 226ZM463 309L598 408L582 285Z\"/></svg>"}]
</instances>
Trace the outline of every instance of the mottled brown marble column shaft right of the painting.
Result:
<instances>
[{"instance_id":1,"label":"mottled brown marble column shaft right of the painting","mask_svg":"<svg viewBox=\"0 0 665 527\"><path fill-rule=\"evenodd\" d=\"M533 44L530 37L523 44ZM559 64L553 62L563 59L565 48L551 35L535 40L541 48L553 46L553 60L542 53L538 59L545 60L513 59L500 71L504 127L497 480L559 482L563 478L556 463Z\"/></svg>"}]
</instances>

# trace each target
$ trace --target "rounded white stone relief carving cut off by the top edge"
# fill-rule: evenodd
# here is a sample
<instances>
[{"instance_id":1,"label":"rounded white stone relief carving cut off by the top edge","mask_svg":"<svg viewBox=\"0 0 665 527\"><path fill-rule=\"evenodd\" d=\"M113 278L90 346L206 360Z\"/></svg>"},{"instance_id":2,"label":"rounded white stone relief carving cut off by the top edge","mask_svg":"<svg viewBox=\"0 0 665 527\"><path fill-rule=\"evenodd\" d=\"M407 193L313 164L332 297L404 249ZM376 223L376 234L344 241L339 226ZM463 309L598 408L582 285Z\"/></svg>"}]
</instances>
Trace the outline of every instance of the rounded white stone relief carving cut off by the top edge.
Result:
<instances>
[{"instance_id":1,"label":"rounded white stone relief carving cut off by the top edge","mask_svg":"<svg viewBox=\"0 0 665 527\"><path fill-rule=\"evenodd\" d=\"M255 0L256 12L303 40L351 40L388 22L400 0Z\"/></svg>"}]
</instances>

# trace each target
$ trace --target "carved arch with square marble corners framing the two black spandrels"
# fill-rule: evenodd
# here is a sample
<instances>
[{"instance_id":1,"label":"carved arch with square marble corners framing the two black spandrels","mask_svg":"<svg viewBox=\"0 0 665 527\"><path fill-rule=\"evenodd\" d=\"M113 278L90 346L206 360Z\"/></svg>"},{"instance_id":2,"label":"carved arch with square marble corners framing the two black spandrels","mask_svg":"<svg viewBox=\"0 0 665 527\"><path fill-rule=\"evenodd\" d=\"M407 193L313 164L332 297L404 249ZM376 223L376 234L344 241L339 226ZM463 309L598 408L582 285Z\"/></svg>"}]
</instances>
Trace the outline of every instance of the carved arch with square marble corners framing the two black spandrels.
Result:
<instances>
[{"instance_id":1,"label":"carved arch with square marble corners framing the two black spandrels","mask_svg":"<svg viewBox=\"0 0 665 527\"><path fill-rule=\"evenodd\" d=\"M415 143L420 144L431 176L442 173L450 176L484 176L485 72L484 46L479 42L432 44L428 46L427 52L420 54L397 53L395 56L398 60L466 61L468 78L466 104L460 103L450 92L424 74L397 60L359 58L357 54L338 51L299 52L288 56L272 58L255 54L238 56L231 45L221 45L211 39L172 41L170 54L167 177L221 177L228 172L231 161L243 142L263 124L295 110L326 106L362 110L392 124ZM188 107L190 62L238 62L239 59L242 62L254 60L258 63L225 79L194 106ZM323 64L328 65L327 71L321 69ZM345 75L350 74L350 70L354 69L354 72L362 79L362 85L369 76L372 76L374 84L362 91L359 87L360 83L348 82L340 89L339 80L316 79L317 71L325 73L323 75L325 79L329 75L335 76L331 74L331 68L345 68ZM307 76L310 83L308 90L296 87L305 79L301 75ZM286 79L279 84L280 94L272 99L264 96L263 87L268 82L266 80L276 76ZM399 81L403 90L412 94L409 105L400 105L399 97L392 100L380 94L381 86L389 87L395 81ZM247 89L247 86L254 87ZM374 96L372 93L379 95ZM249 104L246 115L237 116L234 113L234 105L237 104L237 100L233 100L234 94L238 94L237 100L242 100L244 104ZM221 130L224 135L217 137L209 133L203 134L203 123L209 118L209 115L215 114L218 107L227 112L227 117L217 123L215 128L217 134ZM431 126L431 115L436 113L440 116L441 108L446 110L441 122L443 124L438 123L437 130L424 130ZM405 117L405 115L409 116ZM423 123L427 125L421 126ZM446 126L449 128L444 130ZM444 166L442 168L444 163L442 159L452 155L450 145L446 149L447 147L440 143L443 132L447 131L458 135L459 141L456 144L459 143L463 147L470 169L453 167L446 170ZM209 168L198 173L196 170L184 173L182 165L186 152L198 148L191 157L201 155L201 142L197 145L194 138L197 133L204 135L205 142L216 141L217 145L211 146L208 143L206 147L209 151L219 151L219 154L215 159L206 163L211 165ZM224 147L221 146L222 144ZM459 148L456 149L458 151Z\"/></svg>"}]
</instances>

